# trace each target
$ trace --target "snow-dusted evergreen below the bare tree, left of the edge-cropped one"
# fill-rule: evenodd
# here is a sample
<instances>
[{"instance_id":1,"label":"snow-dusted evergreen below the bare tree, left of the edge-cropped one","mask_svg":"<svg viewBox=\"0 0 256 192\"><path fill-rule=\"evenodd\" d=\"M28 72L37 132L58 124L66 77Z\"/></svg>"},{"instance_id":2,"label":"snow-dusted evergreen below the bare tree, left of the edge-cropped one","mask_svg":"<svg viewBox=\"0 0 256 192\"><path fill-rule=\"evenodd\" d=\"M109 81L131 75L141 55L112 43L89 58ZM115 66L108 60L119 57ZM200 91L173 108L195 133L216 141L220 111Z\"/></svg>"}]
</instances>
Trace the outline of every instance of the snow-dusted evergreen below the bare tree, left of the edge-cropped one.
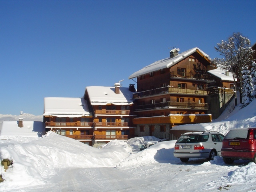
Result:
<instances>
[{"instance_id":1,"label":"snow-dusted evergreen below the bare tree, left of the edge-cropped one","mask_svg":"<svg viewBox=\"0 0 256 192\"><path fill-rule=\"evenodd\" d=\"M254 88L252 84L252 76L248 68L242 70L242 108L250 104L254 100Z\"/></svg>"}]
</instances>

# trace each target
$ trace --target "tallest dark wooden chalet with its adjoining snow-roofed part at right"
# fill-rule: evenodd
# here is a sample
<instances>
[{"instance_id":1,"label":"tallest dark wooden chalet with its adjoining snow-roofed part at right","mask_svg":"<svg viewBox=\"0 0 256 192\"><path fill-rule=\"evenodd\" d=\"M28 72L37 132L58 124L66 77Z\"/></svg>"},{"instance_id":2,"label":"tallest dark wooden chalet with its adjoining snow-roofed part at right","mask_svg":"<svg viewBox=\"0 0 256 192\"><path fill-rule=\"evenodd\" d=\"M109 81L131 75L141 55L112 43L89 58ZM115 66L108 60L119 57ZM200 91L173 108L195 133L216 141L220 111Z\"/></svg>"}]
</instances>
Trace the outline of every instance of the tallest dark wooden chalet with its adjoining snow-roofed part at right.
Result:
<instances>
[{"instance_id":1,"label":"tallest dark wooden chalet with its adjoining snow-roofed part at right","mask_svg":"<svg viewBox=\"0 0 256 192\"><path fill-rule=\"evenodd\" d=\"M133 122L138 136L171 138L172 126L211 122L234 95L232 76L212 66L202 50L178 51L129 77L137 79Z\"/></svg>"}]
</instances>

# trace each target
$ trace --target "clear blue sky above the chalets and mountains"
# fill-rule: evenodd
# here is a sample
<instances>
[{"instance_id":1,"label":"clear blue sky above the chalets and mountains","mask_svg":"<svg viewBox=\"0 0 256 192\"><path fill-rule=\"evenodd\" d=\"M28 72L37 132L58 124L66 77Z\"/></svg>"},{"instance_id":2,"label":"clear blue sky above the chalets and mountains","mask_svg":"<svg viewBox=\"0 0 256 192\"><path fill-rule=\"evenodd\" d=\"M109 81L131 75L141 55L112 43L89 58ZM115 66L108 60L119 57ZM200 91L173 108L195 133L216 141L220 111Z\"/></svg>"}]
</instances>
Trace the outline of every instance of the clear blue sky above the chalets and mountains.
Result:
<instances>
[{"instance_id":1,"label":"clear blue sky above the chalets and mountains","mask_svg":"<svg viewBox=\"0 0 256 192\"><path fill-rule=\"evenodd\" d=\"M256 42L255 0L1 0L0 114L44 112L44 97L135 84L156 60L240 32Z\"/></svg>"}]
</instances>

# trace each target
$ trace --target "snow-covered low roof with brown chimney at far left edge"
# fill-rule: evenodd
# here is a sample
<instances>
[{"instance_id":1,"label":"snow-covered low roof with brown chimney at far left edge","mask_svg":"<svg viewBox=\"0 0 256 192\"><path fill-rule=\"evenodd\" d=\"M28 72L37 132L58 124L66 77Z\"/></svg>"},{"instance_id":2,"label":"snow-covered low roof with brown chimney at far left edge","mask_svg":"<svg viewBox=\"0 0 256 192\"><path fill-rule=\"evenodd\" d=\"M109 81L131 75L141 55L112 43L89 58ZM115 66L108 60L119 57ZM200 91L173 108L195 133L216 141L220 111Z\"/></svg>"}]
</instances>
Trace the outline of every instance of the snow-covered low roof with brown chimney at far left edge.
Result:
<instances>
[{"instance_id":1,"label":"snow-covered low roof with brown chimney at far left edge","mask_svg":"<svg viewBox=\"0 0 256 192\"><path fill-rule=\"evenodd\" d=\"M24 136L42 137L45 134L44 123L40 121L23 121L23 127L18 127L18 121L4 121L0 138Z\"/></svg>"}]
</instances>

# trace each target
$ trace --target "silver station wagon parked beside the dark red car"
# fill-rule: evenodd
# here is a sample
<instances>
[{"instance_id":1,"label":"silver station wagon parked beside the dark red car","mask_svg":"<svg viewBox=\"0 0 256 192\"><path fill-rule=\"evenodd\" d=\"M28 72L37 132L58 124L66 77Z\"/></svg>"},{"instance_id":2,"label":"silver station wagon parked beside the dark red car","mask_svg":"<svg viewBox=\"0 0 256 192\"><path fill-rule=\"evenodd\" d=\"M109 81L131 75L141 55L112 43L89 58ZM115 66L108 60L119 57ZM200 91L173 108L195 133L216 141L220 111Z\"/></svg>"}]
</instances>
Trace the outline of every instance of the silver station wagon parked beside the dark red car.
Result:
<instances>
[{"instance_id":1,"label":"silver station wagon parked beside the dark red car","mask_svg":"<svg viewBox=\"0 0 256 192\"><path fill-rule=\"evenodd\" d=\"M182 134L175 143L174 157L180 158L182 162L188 162L189 158L213 160L215 156L221 156L223 139L224 135L219 132Z\"/></svg>"}]
</instances>

